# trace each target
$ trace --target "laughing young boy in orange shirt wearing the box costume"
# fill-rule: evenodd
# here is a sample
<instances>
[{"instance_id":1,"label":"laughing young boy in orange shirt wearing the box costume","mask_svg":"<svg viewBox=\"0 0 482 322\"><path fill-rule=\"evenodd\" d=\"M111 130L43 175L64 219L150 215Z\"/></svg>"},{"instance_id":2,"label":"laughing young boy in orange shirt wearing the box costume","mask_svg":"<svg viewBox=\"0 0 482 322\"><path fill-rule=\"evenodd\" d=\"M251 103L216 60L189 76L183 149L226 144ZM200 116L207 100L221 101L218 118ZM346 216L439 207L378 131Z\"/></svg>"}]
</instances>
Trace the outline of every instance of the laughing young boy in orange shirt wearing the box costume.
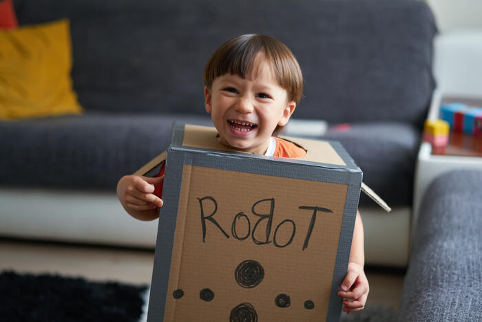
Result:
<instances>
[{"instance_id":1,"label":"laughing young boy in orange shirt wearing the box costume","mask_svg":"<svg viewBox=\"0 0 482 322\"><path fill-rule=\"evenodd\" d=\"M296 158L306 152L274 137L286 125L302 97L303 79L293 53L283 43L258 34L227 41L207 63L204 72L205 107L218 139L242 152ZM118 198L132 217L152 220L163 206L164 168L159 177L125 176L117 186ZM357 212L348 272L339 296L343 310L363 310L368 296L364 273L362 218Z\"/></svg>"}]
</instances>

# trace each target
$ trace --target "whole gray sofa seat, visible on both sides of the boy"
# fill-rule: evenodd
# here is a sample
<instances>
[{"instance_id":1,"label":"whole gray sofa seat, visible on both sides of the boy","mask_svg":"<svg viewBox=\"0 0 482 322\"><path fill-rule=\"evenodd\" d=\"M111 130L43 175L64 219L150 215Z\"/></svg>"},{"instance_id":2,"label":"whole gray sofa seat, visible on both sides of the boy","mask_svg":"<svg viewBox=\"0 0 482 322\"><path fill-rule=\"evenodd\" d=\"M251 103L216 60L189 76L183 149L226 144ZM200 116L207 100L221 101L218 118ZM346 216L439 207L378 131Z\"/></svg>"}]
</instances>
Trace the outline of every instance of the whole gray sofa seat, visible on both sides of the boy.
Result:
<instances>
[{"instance_id":1,"label":"whole gray sofa seat, visible on both sides of the boy","mask_svg":"<svg viewBox=\"0 0 482 322\"><path fill-rule=\"evenodd\" d=\"M97 112L0 122L0 150L8 151L0 158L0 184L114 189L124 174L167 148L174 121L212 125L208 114ZM390 205L410 204L419 141L412 125L354 124L348 132L329 131L322 139L341 141L364 171L364 182ZM362 204L373 203L364 194L361 198Z\"/></svg>"}]
</instances>

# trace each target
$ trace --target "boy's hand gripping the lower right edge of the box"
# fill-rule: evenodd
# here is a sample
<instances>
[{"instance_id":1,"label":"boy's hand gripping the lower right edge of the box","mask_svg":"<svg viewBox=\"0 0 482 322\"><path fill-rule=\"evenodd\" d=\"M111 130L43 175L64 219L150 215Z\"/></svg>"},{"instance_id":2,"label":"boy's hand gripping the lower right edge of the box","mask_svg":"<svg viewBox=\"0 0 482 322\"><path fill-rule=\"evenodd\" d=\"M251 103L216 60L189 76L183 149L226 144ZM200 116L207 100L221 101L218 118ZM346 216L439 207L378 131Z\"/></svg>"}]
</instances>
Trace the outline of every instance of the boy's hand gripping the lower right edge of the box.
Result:
<instances>
[{"instance_id":1,"label":"boy's hand gripping the lower right edge of the box","mask_svg":"<svg viewBox=\"0 0 482 322\"><path fill-rule=\"evenodd\" d=\"M350 314L364 309L370 287L361 265L355 262L348 263L348 272L341 288L338 295L344 299L343 310L346 313Z\"/></svg>"}]
</instances>

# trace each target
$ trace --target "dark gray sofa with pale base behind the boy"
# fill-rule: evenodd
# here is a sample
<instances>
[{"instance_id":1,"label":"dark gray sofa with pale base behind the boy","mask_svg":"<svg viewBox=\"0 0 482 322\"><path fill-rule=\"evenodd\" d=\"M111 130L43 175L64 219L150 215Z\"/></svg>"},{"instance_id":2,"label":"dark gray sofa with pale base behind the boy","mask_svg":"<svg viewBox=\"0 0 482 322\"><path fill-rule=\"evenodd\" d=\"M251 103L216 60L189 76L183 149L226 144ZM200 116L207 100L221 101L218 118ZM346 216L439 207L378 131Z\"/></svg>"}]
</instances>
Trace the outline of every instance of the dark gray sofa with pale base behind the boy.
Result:
<instances>
[{"instance_id":1,"label":"dark gray sofa with pale base behind the boy","mask_svg":"<svg viewBox=\"0 0 482 322\"><path fill-rule=\"evenodd\" d=\"M383 210L370 220L377 205L361 197L367 262L406 264L415 160L434 90L436 27L423 1L14 0L14 7L21 25L70 19L72 79L85 113L0 122L0 235L153 247L156 223L127 217L116 183L167 148L173 121L210 123L207 59L237 34L260 33L286 43L300 62L304 98L294 117L350 123L319 139L341 141L364 182L404 210L400 221Z\"/></svg>"}]
</instances>

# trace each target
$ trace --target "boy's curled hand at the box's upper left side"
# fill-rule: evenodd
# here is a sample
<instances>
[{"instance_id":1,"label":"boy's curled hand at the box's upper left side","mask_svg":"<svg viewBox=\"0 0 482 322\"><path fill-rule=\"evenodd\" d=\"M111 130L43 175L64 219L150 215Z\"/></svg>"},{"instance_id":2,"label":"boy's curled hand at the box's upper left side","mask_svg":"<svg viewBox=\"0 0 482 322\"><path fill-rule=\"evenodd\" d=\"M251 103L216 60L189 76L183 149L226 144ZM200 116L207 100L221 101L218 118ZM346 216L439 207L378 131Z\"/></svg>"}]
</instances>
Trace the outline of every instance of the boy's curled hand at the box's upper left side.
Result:
<instances>
[{"instance_id":1,"label":"boy's curled hand at the box's upper left side","mask_svg":"<svg viewBox=\"0 0 482 322\"><path fill-rule=\"evenodd\" d=\"M163 206L163 200L154 194L154 185L164 181L161 177L129 175L122 177L117 184L117 197L125 210L150 210Z\"/></svg>"}]
</instances>

